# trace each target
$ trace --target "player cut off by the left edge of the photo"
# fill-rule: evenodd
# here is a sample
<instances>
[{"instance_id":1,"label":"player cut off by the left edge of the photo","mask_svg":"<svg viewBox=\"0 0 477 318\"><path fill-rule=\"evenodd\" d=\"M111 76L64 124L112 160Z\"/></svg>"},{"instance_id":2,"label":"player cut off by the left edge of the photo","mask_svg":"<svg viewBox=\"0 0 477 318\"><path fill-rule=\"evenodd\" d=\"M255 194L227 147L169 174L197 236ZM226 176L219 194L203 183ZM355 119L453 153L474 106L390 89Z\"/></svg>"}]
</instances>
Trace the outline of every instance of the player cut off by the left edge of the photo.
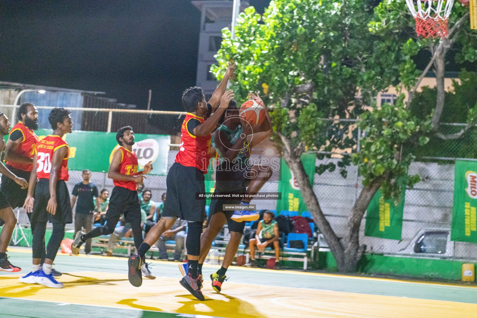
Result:
<instances>
[{"instance_id":1,"label":"player cut off by the left edge of the photo","mask_svg":"<svg viewBox=\"0 0 477 318\"><path fill-rule=\"evenodd\" d=\"M0 112L0 153L3 151L5 146L5 140L3 137L8 134L10 130L10 123L8 118ZM21 178L13 174L6 166L0 163L0 173L2 174L2 185L3 182L9 178L18 185L18 188L24 190L28 187L28 183L24 178ZM10 243L11 234L13 229L17 224L17 218L13 214L13 209L10 206L7 195L3 193L3 188L0 190L0 219L4 222L3 228L0 234L0 271L5 272L19 272L21 271L20 267L13 266L7 258L7 246Z\"/></svg>"}]
</instances>

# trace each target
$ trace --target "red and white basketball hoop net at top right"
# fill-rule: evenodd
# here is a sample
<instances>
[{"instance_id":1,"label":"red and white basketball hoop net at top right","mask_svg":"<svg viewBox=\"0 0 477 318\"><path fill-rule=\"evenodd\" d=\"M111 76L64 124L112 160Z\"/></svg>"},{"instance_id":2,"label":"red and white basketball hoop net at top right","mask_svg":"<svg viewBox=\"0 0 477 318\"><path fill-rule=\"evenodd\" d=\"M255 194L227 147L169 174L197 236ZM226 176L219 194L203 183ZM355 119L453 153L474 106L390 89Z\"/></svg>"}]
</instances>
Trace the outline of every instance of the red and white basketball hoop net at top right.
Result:
<instances>
[{"instance_id":1,"label":"red and white basketball hoop net at top right","mask_svg":"<svg viewBox=\"0 0 477 318\"><path fill-rule=\"evenodd\" d=\"M454 0L406 0L406 3L416 21L417 35L424 38L447 36L447 21Z\"/></svg>"}]
</instances>

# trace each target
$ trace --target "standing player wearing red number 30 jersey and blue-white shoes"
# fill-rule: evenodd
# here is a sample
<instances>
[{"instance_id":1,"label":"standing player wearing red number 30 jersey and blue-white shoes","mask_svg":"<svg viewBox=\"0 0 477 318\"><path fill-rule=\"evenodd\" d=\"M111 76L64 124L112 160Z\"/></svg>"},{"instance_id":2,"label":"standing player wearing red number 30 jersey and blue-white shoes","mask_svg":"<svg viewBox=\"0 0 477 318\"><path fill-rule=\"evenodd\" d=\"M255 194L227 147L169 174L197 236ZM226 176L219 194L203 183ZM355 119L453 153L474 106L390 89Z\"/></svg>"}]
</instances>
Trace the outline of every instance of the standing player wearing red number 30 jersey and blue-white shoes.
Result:
<instances>
[{"instance_id":1,"label":"standing player wearing red number 30 jersey and blue-white shoes","mask_svg":"<svg viewBox=\"0 0 477 318\"><path fill-rule=\"evenodd\" d=\"M70 194L65 183L69 177L69 146L62 139L66 133L72 131L70 113L64 108L53 108L48 116L53 134L43 138L36 146L37 155L33 158L33 167L36 169L31 171L28 194L23 206L27 213L32 213L31 223L34 225L31 248L33 269L29 274L20 277L22 283L63 287L52 275L52 264L64 237L65 224L73 223ZM47 222L52 223L53 230L46 247L45 262L40 268Z\"/></svg>"}]
</instances>

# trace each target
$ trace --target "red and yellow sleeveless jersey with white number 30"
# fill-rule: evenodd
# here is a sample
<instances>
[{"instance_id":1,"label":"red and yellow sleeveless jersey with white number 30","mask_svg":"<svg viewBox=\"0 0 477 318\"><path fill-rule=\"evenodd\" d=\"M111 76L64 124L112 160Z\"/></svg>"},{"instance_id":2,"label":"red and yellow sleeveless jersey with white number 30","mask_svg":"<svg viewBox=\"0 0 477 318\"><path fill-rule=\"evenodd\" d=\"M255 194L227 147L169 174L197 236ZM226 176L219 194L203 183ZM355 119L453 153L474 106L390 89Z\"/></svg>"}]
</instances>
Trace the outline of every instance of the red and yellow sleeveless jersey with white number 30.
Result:
<instances>
[{"instance_id":1,"label":"red and yellow sleeveless jersey with white number 30","mask_svg":"<svg viewBox=\"0 0 477 318\"><path fill-rule=\"evenodd\" d=\"M50 172L52 171L52 159L53 153L61 147L69 147L68 144L61 139L60 136L48 135L36 146L36 153L38 155L36 161L36 176L38 179L50 179ZM61 164L61 173L58 175L58 180L68 181L68 156L69 149L66 158L63 158Z\"/></svg>"}]
</instances>

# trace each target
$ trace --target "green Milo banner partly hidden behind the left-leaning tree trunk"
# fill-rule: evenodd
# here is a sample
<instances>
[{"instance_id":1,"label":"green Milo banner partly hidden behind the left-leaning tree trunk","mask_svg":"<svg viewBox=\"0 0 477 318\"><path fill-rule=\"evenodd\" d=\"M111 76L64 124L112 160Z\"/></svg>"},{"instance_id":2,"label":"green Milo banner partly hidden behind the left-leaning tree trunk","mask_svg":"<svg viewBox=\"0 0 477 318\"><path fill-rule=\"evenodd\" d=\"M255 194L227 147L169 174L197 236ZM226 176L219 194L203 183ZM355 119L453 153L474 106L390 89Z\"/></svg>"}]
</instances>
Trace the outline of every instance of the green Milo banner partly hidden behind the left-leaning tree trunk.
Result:
<instances>
[{"instance_id":1,"label":"green Milo banner partly hidden behind the left-leaning tree trunk","mask_svg":"<svg viewBox=\"0 0 477 318\"><path fill-rule=\"evenodd\" d=\"M315 154L301 155L301 162L303 163L303 168L305 169L306 174L308 174L308 177L310 178L311 185L313 185L313 180L315 178L315 161ZM280 176L281 181L278 184L278 192L281 192L282 199L277 200L277 214L282 210L298 212L308 211L308 208L301 197L298 182L295 180L293 173L283 159L281 159Z\"/></svg>"}]
</instances>

